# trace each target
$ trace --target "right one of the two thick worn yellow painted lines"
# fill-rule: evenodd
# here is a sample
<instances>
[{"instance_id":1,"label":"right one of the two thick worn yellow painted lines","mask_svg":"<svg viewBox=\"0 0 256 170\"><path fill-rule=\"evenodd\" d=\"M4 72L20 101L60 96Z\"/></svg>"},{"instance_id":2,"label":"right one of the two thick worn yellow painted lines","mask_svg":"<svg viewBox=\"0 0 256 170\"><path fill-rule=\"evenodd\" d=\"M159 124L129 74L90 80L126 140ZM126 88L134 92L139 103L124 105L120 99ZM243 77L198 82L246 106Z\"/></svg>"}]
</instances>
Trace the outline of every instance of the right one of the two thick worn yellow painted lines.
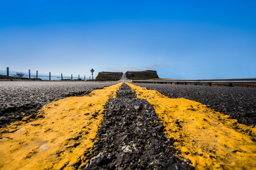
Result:
<instances>
[{"instance_id":1,"label":"right one of the two thick worn yellow painted lines","mask_svg":"<svg viewBox=\"0 0 256 170\"><path fill-rule=\"evenodd\" d=\"M196 169L256 169L256 129L252 126L238 124L196 101L170 99L127 84L138 98L154 106L166 126L165 133Z\"/></svg>"}]
</instances>

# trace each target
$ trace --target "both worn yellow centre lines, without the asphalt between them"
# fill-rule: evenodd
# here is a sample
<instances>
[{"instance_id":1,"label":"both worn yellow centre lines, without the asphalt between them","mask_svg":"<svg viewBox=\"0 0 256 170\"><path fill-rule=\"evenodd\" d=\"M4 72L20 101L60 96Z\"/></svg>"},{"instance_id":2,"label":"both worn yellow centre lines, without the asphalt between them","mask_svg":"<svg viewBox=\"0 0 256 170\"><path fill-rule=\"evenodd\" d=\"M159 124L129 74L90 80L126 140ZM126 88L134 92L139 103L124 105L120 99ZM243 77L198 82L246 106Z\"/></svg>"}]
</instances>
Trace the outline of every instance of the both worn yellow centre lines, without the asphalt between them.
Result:
<instances>
[{"instance_id":1,"label":"both worn yellow centre lines, without the asphalt between them","mask_svg":"<svg viewBox=\"0 0 256 170\"><path fill-rule=\"evenodd\" d=\"M104 105L122 83L68 97L46 105L37 118L1 129L0 169L75 169L86 164ZM187 99L170 99L157 91L127 83L146 99L166 126L168 138L196 169L253 169L256 167L256 130L224 114ZM7 133L8 132L8 133ZM88 161L88 160L87 160Z\"/></svg>"}]
</instances>

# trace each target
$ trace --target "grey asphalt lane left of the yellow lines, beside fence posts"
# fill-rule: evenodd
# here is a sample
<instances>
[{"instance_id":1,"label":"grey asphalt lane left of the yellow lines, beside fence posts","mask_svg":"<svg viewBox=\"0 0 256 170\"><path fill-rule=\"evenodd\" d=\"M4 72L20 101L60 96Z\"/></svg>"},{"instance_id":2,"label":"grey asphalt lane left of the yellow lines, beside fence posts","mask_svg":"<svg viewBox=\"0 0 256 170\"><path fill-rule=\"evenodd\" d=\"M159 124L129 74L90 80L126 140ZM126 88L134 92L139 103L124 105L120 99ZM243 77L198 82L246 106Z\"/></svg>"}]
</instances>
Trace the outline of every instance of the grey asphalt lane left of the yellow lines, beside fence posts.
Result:
<instances>
[{"instance_id":1,"label":"grey asphalt lane left of the yellow lines, beside fence posts","mask_svg":"<svg viewBox=\"0 0 256 170\"><path fill-rule=\"evenodd\" d=\"M115 83L0 82L0 128L22 120L44 105L70 96L84 96Z\"/></svg>"}]
</instances>

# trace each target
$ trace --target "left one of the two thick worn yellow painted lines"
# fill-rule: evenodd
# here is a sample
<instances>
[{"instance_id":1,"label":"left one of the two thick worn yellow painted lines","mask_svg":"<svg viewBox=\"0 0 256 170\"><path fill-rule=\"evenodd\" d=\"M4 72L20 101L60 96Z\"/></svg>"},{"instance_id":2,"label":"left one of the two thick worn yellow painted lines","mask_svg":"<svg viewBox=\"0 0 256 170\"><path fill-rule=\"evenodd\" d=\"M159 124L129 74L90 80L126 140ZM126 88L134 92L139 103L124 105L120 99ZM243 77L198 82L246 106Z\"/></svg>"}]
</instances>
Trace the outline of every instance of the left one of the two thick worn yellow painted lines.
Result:
<instances>
[{"instance_id":1,"label":"left one of the two thick worn yellow painted lines","mask_svg":"<svg viewBox=\"0 0 256 170\"><path fill-rule=\"evenodd\" d=\"M1 134L0 169L74 169L69 166L86 159L104 105L121 84L47 104L38 118L26 117L1 129L9 133Z\"/></svg>"}]
</instances>

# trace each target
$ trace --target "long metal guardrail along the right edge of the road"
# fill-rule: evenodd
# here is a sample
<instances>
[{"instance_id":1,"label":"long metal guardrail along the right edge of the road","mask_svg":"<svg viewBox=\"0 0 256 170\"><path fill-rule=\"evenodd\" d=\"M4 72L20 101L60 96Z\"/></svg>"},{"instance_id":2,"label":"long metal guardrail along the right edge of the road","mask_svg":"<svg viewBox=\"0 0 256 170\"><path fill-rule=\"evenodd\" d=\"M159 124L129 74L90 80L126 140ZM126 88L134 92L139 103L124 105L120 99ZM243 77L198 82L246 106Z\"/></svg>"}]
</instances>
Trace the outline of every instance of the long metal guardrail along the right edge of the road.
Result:
<instances>
[{"instance_id":1,"label":"long metal guardrail along the right edge of the road","mask_svg":"<svg viewBox=\"0 0 256 170\"><path fill-rule=\"evenodd\" d=\"M212 86L212 83L229 83L229 86L232 87L233 83L256 83L256 78L245 78L245 79L195 79L195 80L131 80L132 83L155 83L155 84L172 84L172 83L193 83L198 85L199 83L209 83L209 86Z\"/></svg>"}]
</instances>

